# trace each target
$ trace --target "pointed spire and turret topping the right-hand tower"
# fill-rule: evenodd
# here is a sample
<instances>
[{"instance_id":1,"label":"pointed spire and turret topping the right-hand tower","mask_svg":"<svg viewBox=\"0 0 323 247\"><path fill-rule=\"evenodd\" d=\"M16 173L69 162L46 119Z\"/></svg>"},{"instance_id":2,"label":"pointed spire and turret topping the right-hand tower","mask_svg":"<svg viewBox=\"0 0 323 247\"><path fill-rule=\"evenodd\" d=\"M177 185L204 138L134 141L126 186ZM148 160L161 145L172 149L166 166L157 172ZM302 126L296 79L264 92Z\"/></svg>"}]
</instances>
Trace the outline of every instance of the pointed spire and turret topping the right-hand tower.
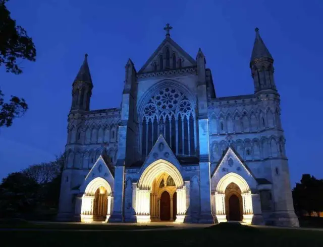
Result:
<instances>
[{"instance_id":1,"label":"pointed spire and turret topping the right-hand tower","mask_svg":"<svg viewBox=\"0 0 323 247\"><path fill-rule=\"evenodd\" d=\"M254 92L277 91L274 80L274 58L262 41L259 29L255 29L256 38L254 40L250 69L254 82Z\"/></svg>"}]
</instances>

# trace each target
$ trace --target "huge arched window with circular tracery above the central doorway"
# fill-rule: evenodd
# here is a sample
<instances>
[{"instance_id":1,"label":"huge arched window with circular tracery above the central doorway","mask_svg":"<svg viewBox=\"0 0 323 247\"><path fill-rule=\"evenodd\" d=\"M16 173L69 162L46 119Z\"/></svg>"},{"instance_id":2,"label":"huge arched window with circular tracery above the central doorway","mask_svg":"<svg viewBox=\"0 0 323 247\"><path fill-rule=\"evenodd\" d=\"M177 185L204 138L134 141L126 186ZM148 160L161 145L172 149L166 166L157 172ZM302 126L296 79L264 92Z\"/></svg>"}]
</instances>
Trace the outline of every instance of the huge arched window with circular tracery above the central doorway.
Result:
<instances>
[{"instance_id":1,"label":"huge arched window with circular tracery above the central doorway","mask_svg":"<svg viewBox=\"0 0 323 247\"><path fill-rule=\"evenodd\" d=\"M195 114L191 102L180 91L159 90L141 115L141 155L145 158L161 134L177 155L195 155Z\"/></svg>"}]
</instances>

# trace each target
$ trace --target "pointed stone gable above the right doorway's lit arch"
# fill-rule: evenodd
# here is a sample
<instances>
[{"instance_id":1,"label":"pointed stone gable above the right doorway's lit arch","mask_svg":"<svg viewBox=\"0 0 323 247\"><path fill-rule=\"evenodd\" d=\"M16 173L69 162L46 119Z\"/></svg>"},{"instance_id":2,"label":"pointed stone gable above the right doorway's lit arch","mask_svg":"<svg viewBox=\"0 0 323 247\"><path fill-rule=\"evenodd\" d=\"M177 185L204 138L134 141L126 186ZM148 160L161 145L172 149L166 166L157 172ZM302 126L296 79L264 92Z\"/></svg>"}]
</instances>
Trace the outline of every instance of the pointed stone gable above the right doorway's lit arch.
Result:
<instances>
[{"instance_id":1,"label":"pointed stone gable above the right doorway's lit arch","mask_svg":"<svg viewBox=\"0 0 323 247\"><path fill-rule=\"evenodd\" d=\"M256 178L248 168L247 164L243 162L242 158L232 146L227 148L217 167L214 168L214 171L211 175L213 183L219 182L221 178L229 173L240 175L247 181L248 185L251 188L256 188Z\"/></svg>"}]
</instances>

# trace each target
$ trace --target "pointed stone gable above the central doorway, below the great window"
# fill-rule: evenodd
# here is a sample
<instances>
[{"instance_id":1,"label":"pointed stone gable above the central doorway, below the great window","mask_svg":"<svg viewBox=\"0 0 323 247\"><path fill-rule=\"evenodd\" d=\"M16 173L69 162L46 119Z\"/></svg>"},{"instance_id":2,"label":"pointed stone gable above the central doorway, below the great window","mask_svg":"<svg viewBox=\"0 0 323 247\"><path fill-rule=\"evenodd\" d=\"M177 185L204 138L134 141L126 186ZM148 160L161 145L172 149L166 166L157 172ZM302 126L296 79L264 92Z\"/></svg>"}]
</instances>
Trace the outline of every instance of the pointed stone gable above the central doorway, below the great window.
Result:
<instances>
[{"instance_id":1,"label":"pointed stone gable above the central doorway, below the great window","mask_svg":"<svg viewBox=\"0 0 323 247\"><path fill-rule=\"evenodd\" d=\"M182 174L182 167L173 153L172 149L166 142L163 135L159 135L156 143L153 145L151 151L149 152L146 160L143 163L143 166L140 169L140 173L145 171L145 169L154 161L158 159L164 159L171 162Z\"/></svg>"}]
</instances>

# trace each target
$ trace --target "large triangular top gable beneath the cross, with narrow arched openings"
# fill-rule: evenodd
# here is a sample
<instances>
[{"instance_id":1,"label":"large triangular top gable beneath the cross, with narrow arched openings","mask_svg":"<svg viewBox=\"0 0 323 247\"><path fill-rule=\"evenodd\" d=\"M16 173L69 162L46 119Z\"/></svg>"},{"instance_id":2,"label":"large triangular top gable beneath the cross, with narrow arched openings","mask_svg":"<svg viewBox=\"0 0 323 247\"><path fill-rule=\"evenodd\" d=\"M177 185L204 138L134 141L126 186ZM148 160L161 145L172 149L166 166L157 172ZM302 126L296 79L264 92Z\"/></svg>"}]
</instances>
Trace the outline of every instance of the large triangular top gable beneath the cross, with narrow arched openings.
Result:
<instances>
[{"instance_id":1,"label":"large triangular top gable beneath the cross, with narrow arched openings","mask_svg":"<svg viewBox=\"0 0 323 247\"><path fill-rule=\"evenodd\" d=\"M174 40L170 37L166 37L163 42L157 47L155 52L149 57L146 63L138 71L138 73L152 72L155 71L155 66L157 71L165 70L159 67L160 56L166 57L167 49L170 54L170 69L173 68L173 55L176 57L176 68L179 68L179 62L181 63L180 67L190 67L196 66L196 61L193 59L186 51L184 51ZM166 68L166 69L169 69Z\"/></svg>"}]
</instances>

